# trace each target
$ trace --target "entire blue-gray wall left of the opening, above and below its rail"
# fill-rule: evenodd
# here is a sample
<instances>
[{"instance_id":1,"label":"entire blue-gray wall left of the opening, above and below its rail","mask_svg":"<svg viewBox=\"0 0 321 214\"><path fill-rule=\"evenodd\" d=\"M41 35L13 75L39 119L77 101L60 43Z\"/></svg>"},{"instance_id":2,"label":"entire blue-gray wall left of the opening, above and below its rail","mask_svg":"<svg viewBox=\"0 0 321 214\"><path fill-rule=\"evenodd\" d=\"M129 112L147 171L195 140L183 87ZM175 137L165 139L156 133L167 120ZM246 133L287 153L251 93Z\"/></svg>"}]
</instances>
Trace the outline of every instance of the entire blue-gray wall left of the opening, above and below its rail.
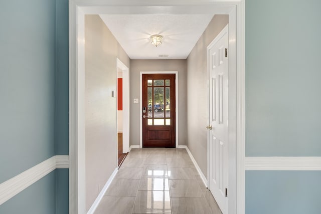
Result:
<instances>
[{"instance_id":1,"label":"entire blue-gray wall left of the opening, above and below its rail","mask_svg":"<svg viewBox=\"0 0 321 214\"><path fill-rule=\"evenodd\" d=\"M2 183L68 154L68 0L2 1L0 26ZM68 213L68 169L0 205L0 213L55 211Z\"/></svg>"}]
</instances>

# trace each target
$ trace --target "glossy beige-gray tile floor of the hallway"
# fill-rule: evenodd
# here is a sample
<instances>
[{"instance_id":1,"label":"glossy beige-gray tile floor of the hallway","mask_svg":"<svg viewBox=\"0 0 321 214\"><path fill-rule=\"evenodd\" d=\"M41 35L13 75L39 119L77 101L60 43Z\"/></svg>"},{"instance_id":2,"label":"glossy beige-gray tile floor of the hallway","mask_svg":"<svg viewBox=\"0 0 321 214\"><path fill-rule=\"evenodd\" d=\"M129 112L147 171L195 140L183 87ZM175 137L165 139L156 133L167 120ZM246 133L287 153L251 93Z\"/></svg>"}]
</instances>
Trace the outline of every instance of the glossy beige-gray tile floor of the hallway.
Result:
<instances>
[{"instance_id":1,"label":"glossy beige-gray tile floor of the hallway","mask_svg":"<svg viewBox=\"0 0 321 214\"><path fill-rule=\"evenodd\" d=\"M185 149L132 149L95 214L222 214Z\"/></svg>"}]
</instances>

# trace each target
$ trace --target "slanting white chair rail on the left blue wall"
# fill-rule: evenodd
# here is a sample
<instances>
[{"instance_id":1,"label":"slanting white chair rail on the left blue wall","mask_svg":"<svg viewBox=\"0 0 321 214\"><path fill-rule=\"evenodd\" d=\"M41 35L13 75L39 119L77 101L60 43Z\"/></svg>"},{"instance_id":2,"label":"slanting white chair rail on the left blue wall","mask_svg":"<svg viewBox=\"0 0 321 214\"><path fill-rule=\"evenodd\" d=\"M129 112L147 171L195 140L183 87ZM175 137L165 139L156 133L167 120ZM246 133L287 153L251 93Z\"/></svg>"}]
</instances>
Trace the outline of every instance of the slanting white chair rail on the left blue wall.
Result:
<instances>
[{"instance_id":1,"label":"slanting white chair rail on the left blue wall","mask_svg":"<svg viewBox=\"0 0 321 214\"><path fill-rule=\"evenodd\" d=\"M0 184L0 205L56 168L68 168L68 155L55 155Z\"/></svg>"}]
</instances>

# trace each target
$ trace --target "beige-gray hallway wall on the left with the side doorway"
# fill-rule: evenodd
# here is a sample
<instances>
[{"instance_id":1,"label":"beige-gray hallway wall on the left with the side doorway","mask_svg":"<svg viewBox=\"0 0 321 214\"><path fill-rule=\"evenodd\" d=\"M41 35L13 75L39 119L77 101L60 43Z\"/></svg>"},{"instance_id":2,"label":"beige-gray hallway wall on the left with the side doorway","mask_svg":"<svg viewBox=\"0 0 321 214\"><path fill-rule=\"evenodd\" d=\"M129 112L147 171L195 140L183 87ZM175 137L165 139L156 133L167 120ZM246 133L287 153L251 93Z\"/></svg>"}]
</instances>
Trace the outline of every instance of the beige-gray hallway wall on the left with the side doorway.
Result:
<instances>
[{"instance_id":1,"label":"beige-gray hallway wall on the left with the side doorway","mask_svg":"<svg viewBox=\"0 0 321 214\"><path fill-rule=\"evenodd\" d=\"M98 15L85 16L86 210L117 167L116 57L129 58Z\"/></svg>"}]
</instances>

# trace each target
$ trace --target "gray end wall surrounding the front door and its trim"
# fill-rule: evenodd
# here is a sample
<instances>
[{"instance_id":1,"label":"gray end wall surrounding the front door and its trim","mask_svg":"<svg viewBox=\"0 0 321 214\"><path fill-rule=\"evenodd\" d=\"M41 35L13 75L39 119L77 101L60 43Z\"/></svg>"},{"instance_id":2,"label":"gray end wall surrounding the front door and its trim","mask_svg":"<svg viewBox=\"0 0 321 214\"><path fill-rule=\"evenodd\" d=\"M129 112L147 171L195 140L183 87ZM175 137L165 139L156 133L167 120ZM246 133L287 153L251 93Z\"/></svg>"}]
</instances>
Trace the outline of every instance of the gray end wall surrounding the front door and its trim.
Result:
<instances>
[{"instance_id":1,"label":"gray end wall surrounding the front door and its trim","mask_svg":"<svg viewBox=\"0 0 321 214\"><path fill-rule=\"evenodd\" d=\"M186 96L186 60L131 60L129 70L130 85L130 145L139 145L139 72L141 71L177 71L179 85L179 144L186 145L187 96ZM141 102L141 100L139 100Z\"/></svg>"}]
</instances>

